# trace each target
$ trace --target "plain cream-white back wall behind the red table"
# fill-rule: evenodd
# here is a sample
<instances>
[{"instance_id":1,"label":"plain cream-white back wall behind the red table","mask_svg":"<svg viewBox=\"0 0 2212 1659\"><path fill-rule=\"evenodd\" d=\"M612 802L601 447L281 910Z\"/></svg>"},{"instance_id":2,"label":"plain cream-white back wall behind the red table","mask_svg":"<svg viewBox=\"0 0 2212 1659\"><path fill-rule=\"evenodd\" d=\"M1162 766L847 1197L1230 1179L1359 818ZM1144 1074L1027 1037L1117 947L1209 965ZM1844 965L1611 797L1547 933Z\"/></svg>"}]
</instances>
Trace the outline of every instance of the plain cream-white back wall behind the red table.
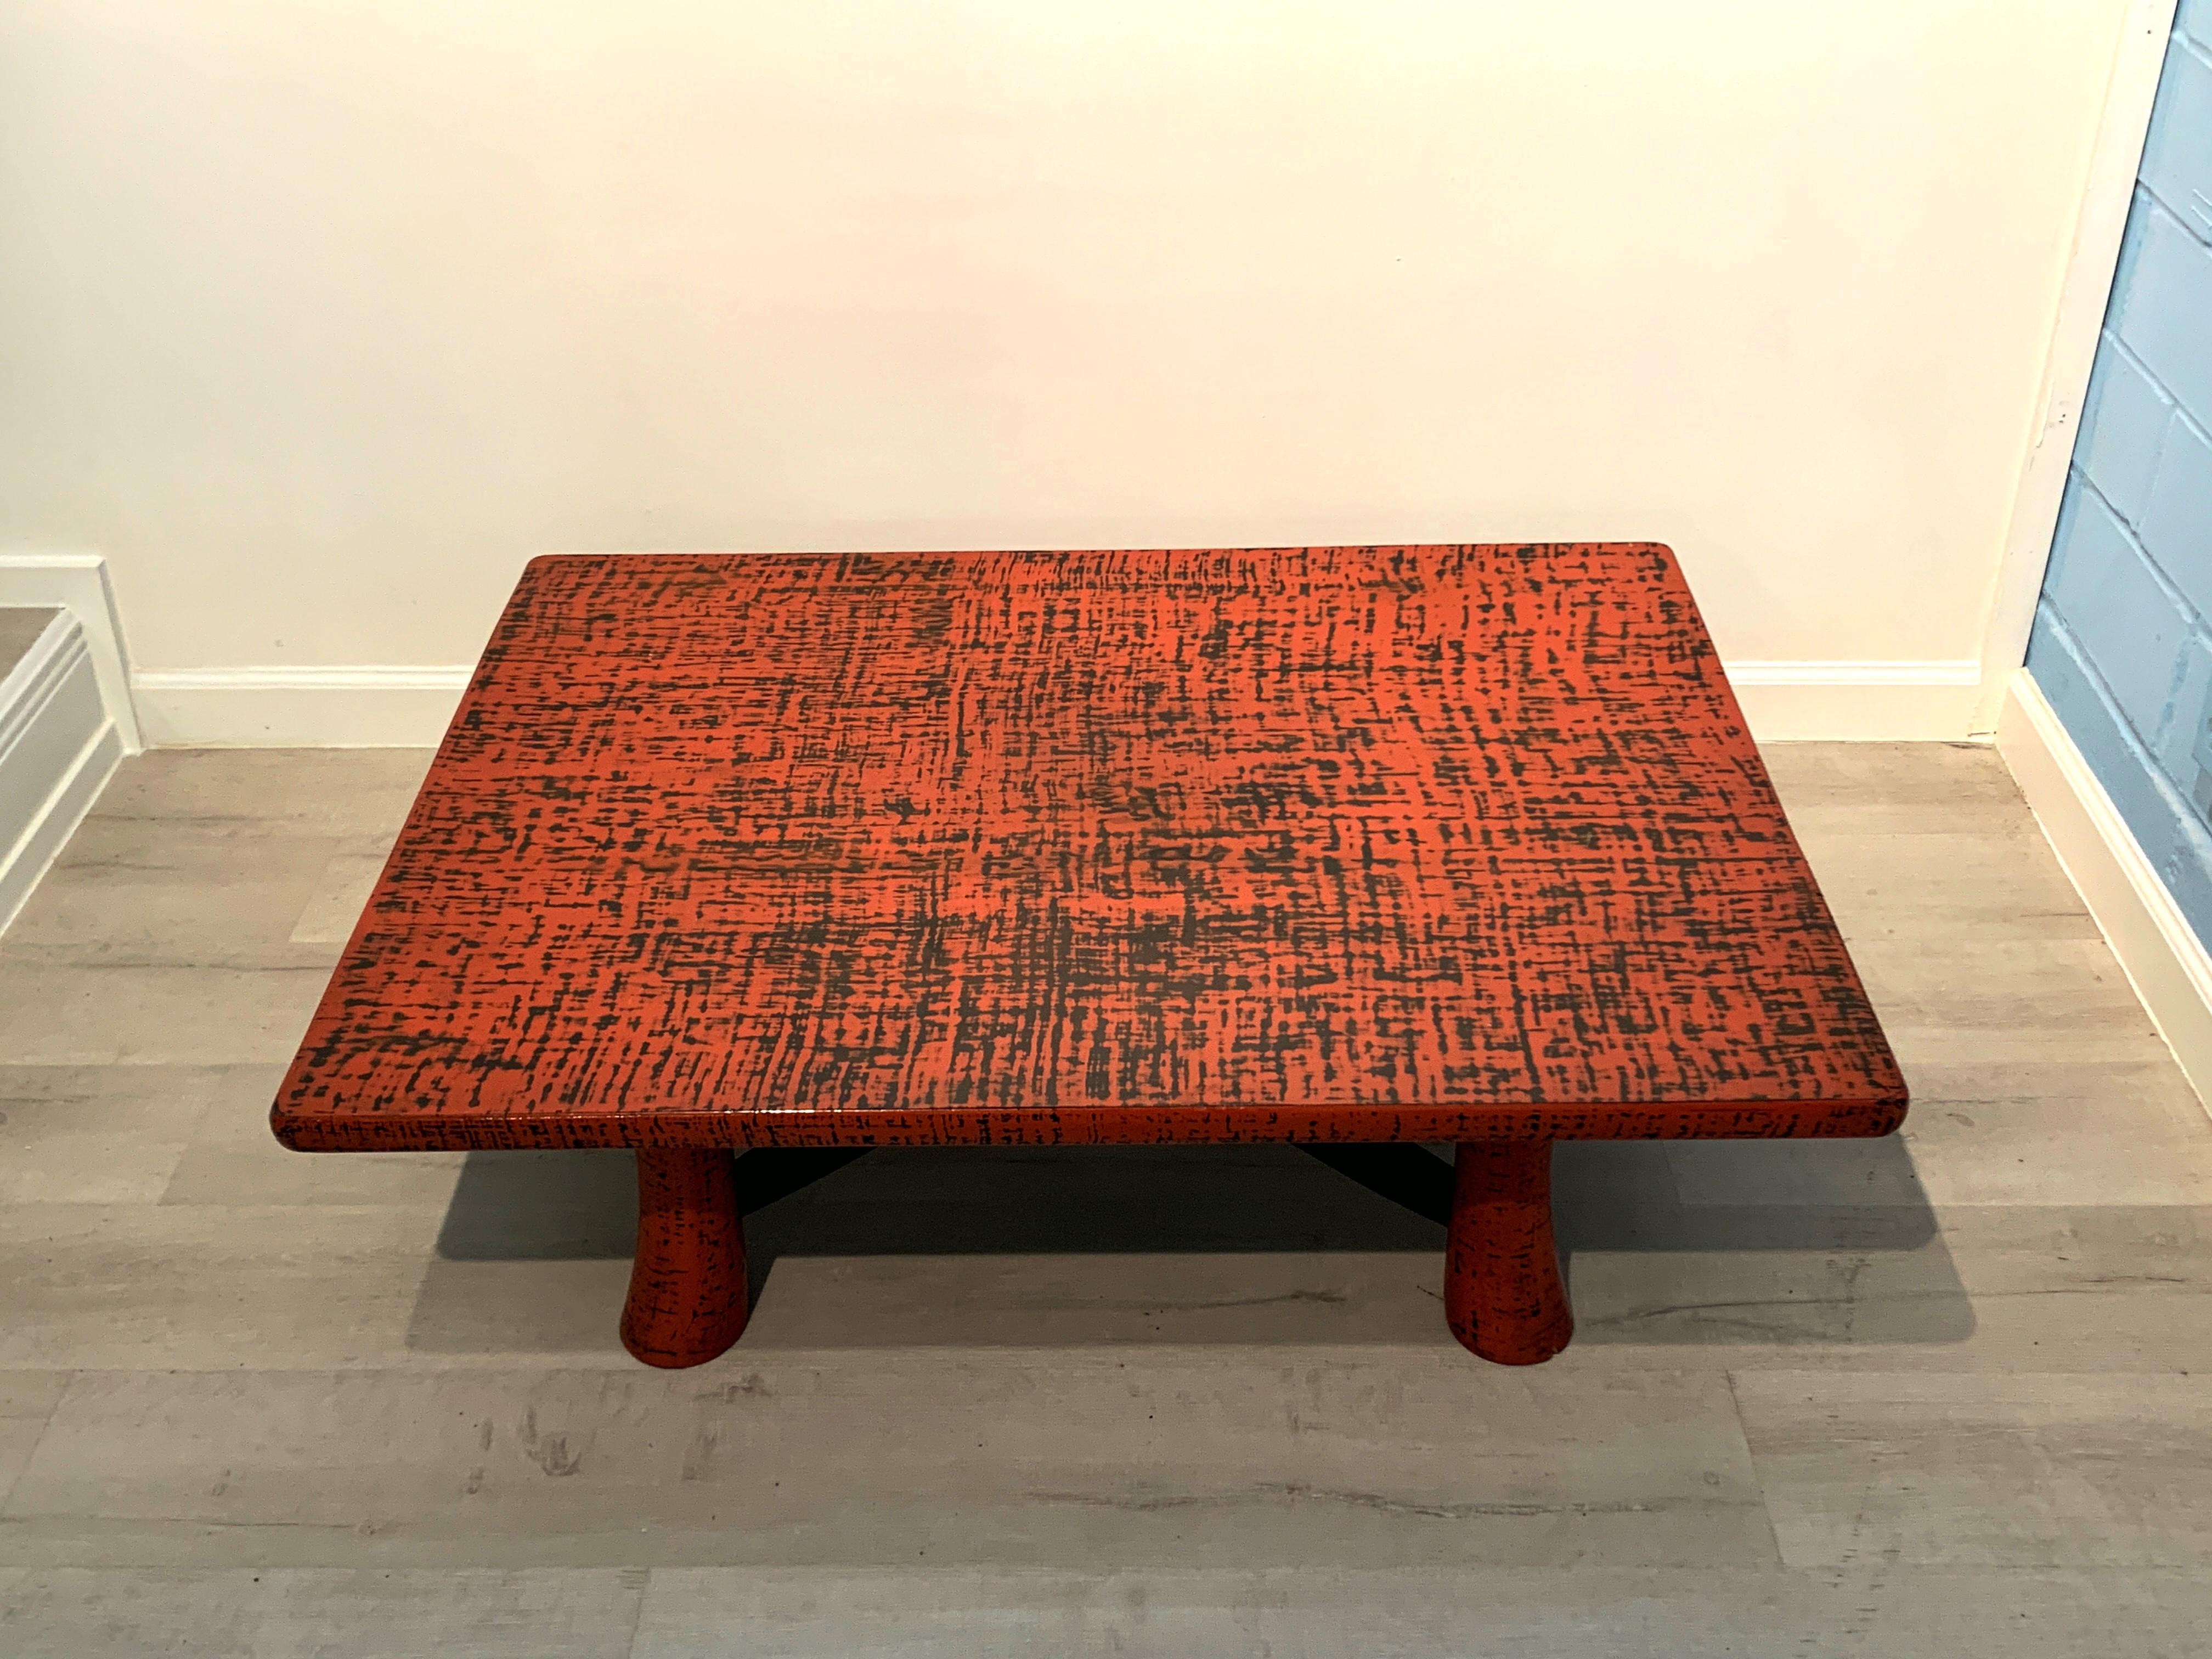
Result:
<instances>
[{"instance_id":1,"label":"plain cream-white back wall behind the red table","mask_svg":"<svg viewBox=\"0 0 2212 1659\"><path fill-rule=\"evenodd\" d=\"M1380 538L1958 664L2124 7L0 2L0 549L150 670L465 664L542 551Z\"/></svg>"}]
</instances>

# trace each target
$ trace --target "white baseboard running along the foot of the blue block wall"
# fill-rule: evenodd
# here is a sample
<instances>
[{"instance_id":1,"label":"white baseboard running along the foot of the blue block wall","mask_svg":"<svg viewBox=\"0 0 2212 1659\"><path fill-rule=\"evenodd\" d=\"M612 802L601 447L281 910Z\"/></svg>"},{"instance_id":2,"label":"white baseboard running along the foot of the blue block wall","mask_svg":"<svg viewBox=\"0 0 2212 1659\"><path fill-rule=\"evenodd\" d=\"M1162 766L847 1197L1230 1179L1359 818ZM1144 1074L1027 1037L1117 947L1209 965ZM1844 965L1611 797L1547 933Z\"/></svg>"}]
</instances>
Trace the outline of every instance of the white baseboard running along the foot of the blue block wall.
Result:
<instances>
[{"instance_id":1,"label":"white baseboard running along the foot of the blue block wall","mask_svg":"<svg viewBox=\"0 0 2212 1659\"><path fill-rule=\"evenodd\" d=\"M2212 953L2026 668L2004 692L1997 754L2197 1099L2212 1106Z\"/></svg>"}]
</instances>

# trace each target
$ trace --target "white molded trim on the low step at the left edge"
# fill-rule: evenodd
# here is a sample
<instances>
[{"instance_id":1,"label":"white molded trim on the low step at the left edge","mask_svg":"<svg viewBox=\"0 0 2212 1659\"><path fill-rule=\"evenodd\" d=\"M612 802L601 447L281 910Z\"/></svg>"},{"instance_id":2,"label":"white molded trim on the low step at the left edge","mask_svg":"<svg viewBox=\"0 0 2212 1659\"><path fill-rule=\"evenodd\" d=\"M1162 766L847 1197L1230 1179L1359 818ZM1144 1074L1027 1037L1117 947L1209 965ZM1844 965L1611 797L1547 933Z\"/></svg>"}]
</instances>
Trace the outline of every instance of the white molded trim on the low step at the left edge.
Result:
<instances>
[{"instance_id":1,"label":"white molded trim on the low step at the left edge","mask_svg":"<svg viewBox=\"0 0 2212 1659\"><path fill-rule=\"evenodd\" d=\"M0 929L124 757L91 641L62 611L0 677Z\"/></svg>"}]
</instances>

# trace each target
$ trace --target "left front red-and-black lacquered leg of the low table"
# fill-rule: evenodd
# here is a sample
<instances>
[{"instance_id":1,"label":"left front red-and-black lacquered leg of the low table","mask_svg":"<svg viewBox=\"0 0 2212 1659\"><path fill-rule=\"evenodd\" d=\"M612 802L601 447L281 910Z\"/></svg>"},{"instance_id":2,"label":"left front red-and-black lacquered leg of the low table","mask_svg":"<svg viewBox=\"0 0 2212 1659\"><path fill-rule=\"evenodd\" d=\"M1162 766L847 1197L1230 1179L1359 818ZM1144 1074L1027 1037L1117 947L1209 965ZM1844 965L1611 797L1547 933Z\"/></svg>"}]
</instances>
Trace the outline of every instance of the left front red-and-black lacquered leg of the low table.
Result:
<instances>
[{"instance_id":1,"label":"left front red-and-black lacquered leg of the low table","mask_svg":"<svg viewBox=\"0 0 2212 1659\"><path fill-rule=\"evenodd\" d=\"M703 1365L745 1329L745 1225L728 1152L637 1148L637 1261L622 1345L646 1365Z\"/></svg>"}]
</instances>

